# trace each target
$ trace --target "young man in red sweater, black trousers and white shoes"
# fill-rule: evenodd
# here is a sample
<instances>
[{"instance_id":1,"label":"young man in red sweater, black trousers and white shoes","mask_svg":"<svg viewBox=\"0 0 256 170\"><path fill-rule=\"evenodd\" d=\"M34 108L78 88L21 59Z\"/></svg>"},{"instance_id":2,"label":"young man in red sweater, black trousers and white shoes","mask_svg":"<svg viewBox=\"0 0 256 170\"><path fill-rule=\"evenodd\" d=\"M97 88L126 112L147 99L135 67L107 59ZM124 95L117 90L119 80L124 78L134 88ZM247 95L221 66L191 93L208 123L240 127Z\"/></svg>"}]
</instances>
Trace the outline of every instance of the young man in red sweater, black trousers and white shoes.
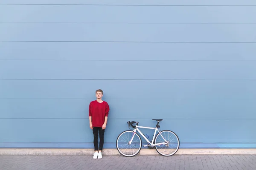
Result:
<instances>
[{"instance_id":1,"label":"young man in red sweater, black trousers and white shoes","mask_svg":"<svg viewBox=\"0 0 256 170\"><path fill-rule=\"evenodd\" d=\"M102 100L103 91L96 90L96 100L90 102L89 105L89 122L90 128L93 130L93 144L95 153L93 159L102 159L102 149L104 144L104 132L108 120L109 105ZM99 136L99 147L98 147ZM99 150L99 152L98 152Z\"/></svg>"}]
</instances>

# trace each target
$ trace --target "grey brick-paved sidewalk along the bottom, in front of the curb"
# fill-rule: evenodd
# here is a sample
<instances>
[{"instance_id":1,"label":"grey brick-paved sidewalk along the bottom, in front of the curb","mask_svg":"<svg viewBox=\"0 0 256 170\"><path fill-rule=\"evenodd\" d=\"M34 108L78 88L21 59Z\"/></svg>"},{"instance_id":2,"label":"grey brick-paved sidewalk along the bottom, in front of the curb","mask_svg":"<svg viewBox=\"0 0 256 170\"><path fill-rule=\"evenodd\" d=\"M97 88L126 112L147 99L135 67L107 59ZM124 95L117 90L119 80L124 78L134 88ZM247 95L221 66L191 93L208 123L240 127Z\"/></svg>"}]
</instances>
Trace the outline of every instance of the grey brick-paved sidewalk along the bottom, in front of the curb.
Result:
<instances>
[{"instance_id":1,"label":"grey brick-paved sidewalk along the bottom, in front of the curb","mask_svg":"<svg viewBox=\"0 0 256 170\"><path fill-rule=\"evenodd\" d=\"M0 155L0 170L256 170L256 155Z\"/></svg>"}]
</instances>

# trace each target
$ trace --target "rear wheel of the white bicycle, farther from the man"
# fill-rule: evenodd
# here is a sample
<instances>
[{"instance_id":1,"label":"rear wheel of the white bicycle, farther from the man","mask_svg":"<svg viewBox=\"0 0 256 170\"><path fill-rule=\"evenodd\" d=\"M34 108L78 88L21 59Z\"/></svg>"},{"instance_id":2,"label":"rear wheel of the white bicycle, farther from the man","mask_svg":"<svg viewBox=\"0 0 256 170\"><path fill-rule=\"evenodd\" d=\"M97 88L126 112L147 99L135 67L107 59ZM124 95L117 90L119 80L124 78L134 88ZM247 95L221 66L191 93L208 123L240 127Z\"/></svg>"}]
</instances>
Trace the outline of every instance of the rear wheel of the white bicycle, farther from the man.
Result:
<instances>
[{"instance_id":1,"label":"rear wheel of the white bicycle, farther from the man","mask_svg":"<svg viewBox=\"0 0 256 170\"><path fill-rule=\"evenodd\" d=\"M163 138L167 141L167 144L160 144L165 142ZM174 155L180 147L178 136L171 130L163 130L161 133L158 133L155 139L155 144L158 143L159 145L156 145L155 148L157 152L163 156Z\"/></svg>"}]
</instances>

